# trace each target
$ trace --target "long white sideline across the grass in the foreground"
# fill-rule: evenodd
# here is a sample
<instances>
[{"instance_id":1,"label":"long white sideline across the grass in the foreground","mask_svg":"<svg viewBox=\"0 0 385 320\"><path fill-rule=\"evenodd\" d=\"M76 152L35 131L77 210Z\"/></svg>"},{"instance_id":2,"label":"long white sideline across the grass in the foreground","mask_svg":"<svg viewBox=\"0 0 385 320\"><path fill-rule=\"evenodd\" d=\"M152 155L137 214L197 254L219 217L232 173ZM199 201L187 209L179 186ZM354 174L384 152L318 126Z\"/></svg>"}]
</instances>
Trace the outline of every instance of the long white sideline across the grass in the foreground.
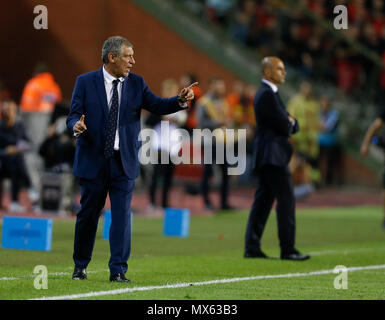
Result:
<instances>
[{"instance_id":1,"label":"long white sideline across the grass in the foreground","mask_svg":"<svg viewBox=\"0 0 385 320\"><path fill-rule=\"evenodd\" d=\"M347 270L350 271L350 272L360 271L360 270L375 270L375 269L385 269L385 264L372 265L372 266L364 266L364 267L350 267L350 268L347 268ZM168 284L168 285L163 285L163 286L148 286L148 287L124 288L124 289L116 289L116 290L108 290L108 291L95 291L95 292L88 292L88 293L79 293L79 294L72 294L72 295L65 295L65 296L33 298L33 299L28 299L28 300L80 299L80 298L90 298L90 297L98 297L98 296L116 295L116 294L122 294L122 293L127 293L127 292L135 292L135 291L151 291L151 290L161 290L161 289L176 289L176 288L185 288L185 287L190 287L190 286L204 286L204 285L210 285L210 284L221 284L221 283L231 283L231 282L240 282L240 281L249 281L249 280L261 280L261 279L306 277L306 276L323 275L323 274L331 274L331 273L334 273L334 269L332 269L332 270L311 271L311 272L304 272L304 273L272 274L272 275L264 275L264 276L252 276L252 277L241 277L241 278L209 280L209 281L201 281L201 282L175 283L175 284Z\"/></svg>"}]
</instances>

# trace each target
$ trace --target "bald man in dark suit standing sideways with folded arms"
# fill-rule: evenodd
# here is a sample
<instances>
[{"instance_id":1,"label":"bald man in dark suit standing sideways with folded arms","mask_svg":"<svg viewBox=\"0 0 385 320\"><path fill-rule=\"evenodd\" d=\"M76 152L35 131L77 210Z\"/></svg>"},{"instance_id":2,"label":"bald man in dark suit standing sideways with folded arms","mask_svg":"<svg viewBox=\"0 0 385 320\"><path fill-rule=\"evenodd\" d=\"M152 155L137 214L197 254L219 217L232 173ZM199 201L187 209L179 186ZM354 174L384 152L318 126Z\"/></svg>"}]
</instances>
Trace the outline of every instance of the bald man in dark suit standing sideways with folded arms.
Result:
<instances>
[{"instance_id":1,"label":"bald man in dark suit standing sideways with folded arms","mask_svg":"<svg viewBox=\"0 0 385 320\"><path fill-rule=\"evenodd\" d=\"M296 119L286 111L278 85L285 81L285 66L277 57L265 57L263 79L254 99L257 131L254 140L253 169L258 188L246 230L246 258L267 258L261 250L261 237L274 200L277 200L278 236L281 259L307 260L309 255L295 249L295 198L288 164L292 155L290 135L298 132Z\"/></svg>"}]
</instances>

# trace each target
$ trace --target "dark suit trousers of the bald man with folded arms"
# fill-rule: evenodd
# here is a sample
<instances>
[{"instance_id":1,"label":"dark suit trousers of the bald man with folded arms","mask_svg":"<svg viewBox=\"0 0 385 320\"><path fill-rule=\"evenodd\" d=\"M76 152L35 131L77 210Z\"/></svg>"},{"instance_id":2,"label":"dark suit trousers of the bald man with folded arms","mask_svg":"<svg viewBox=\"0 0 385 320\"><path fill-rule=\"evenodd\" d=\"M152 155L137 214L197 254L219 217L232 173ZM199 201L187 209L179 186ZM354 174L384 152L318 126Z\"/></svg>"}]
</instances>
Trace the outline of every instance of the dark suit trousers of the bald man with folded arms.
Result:
<instances>
[{"instance_id":1,"label":"dark suit trousers of the bald man with folded arms","mask_svg":"<svg viewBox=\"0 0 385 320\"><path fill-rule=\"evenodd\" d=\"M257 176L258 188L246 229L246 251L260 250L261 237L274 200L281 253L289 253L295 242L295 198L287 167L263 166Z\"/></svg>"}]
</instances>

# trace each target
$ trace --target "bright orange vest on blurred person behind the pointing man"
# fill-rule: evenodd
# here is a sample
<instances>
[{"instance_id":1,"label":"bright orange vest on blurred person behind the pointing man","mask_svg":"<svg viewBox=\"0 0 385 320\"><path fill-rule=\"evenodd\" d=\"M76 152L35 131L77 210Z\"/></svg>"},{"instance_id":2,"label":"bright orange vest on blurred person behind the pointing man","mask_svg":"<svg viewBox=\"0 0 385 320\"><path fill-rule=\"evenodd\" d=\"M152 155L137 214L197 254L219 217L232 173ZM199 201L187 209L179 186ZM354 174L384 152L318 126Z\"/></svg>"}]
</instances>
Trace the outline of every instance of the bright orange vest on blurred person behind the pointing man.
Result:
<instances>
[{"instance_id":1,"label":"bright orange vest on blurred person behind the pointing man","mask_svg":"<svg viewBox=\"0 0 385 320\"><path fill-rule=\"evenodd\" d=\"M39 73L24 87L20 102L23 112L52 112L62 99L61 91L49 72Z\"/></svg>"}]
</instances>

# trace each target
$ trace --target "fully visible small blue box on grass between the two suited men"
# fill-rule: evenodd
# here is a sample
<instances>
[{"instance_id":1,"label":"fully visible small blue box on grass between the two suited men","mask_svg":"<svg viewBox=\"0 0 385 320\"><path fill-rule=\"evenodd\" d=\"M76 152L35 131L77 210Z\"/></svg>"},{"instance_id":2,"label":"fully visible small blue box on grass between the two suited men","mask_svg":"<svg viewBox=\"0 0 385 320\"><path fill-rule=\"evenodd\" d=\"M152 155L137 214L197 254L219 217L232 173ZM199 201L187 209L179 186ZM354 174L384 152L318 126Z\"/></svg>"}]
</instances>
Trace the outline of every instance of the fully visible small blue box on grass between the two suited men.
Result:
<instances>
[{"instance_id":1,"label":"fully visible small blue box on grass between the two suited men","mask_svg":"<svg viewBox=\"0 0 385 320\"><path fill-rule=\"evenodd\" d=\"M164 210L163 235L185 238L189 234L190 210L166 208Z\"/></svg>"}]
</instances>

